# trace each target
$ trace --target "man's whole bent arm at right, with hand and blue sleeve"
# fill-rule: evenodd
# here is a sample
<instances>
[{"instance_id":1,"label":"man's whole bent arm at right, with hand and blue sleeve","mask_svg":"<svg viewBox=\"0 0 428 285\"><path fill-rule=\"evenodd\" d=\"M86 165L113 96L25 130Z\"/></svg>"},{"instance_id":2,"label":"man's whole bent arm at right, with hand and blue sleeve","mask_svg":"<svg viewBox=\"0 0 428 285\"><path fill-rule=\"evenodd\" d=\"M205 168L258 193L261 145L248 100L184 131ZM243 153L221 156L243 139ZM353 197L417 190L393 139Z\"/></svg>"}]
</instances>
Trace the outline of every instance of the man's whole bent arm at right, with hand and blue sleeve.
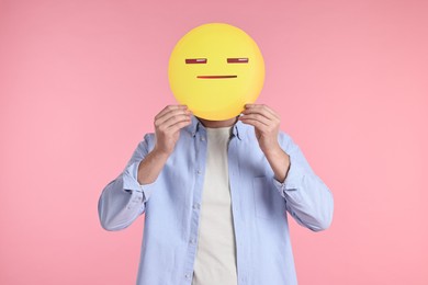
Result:
<instances>
[{"instance_id":1,"label":"man's whole bent arm at right, with hand and blue sleeve","mask_svg":"<svg viewBox=\"0 0 428 285\"><path fill-rule=\"evenodd\" d=\"M266 105L248 104L239 119L255 127L289 213L300 225L314 231L328 228L333 219L333 195L291 138L284 134L279 136L279 116Z\"/></svg>"}]
</instances>

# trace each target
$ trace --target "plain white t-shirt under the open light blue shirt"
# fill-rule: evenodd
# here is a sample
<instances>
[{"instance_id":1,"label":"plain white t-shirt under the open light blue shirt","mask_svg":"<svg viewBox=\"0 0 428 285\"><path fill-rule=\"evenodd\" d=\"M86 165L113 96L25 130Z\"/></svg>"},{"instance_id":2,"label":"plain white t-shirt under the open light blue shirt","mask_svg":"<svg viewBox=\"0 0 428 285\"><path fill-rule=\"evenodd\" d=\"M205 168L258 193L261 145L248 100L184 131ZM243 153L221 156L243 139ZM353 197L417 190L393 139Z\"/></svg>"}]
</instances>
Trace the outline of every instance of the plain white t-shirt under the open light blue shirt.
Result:
<instances>
[{"instance_id":1,"label":"plain white t-shirt under the open light blue shirt","mask_svg":"<svg viewBox=\"0 0 428 285\"><path fill-rule=\"evenodd\" d=\"M207 151L193 285L236 285L227 145L230 127L206 128Z\"/></svg>"}]
</instances>

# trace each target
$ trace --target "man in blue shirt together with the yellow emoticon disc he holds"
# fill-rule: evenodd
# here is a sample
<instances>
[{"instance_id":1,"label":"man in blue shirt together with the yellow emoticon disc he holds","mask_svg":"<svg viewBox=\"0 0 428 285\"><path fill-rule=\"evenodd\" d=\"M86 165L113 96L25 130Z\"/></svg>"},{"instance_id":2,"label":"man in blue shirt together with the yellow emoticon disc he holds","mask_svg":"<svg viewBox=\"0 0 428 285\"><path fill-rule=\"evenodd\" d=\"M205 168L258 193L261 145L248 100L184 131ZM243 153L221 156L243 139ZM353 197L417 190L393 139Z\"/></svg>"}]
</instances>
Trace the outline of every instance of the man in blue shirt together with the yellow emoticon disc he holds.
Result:
<instances>
[{"instance_id":1,"label":"man in blue shirt together with the yellow emoticon disc he holds","mask_svg":"<svg viewBox=\"0 0 428 285\"><path fill-rule=\"evenodd\" d=\"M221 23L185 34L161 110L99 200L106 230L145 214L138 285L297 284L288 218L319 231L333 195L280 117L255 104L264 79L257 44Z\"/></svg>"}]
</instances>

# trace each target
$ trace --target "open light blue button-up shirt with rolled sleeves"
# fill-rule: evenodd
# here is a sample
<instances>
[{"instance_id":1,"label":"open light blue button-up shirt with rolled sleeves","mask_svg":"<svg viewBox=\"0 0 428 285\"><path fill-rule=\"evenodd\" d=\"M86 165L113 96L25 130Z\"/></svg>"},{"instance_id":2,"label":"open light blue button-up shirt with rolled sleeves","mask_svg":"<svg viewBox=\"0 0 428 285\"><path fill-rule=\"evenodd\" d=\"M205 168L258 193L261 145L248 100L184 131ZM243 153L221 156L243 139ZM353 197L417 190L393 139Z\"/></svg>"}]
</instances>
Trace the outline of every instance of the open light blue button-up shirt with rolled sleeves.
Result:
<instances>
[{"instance_id":1,"label":"open light blue button-up shirt with rolled sleeves","mask_svg":"<svg viewBox=\"0 0 428 285\"><path fill-rule=\"evenodd\" d=\"M297 284L288 215L314 231L331 223L330 191L290 136L280 133L278 139L291 161L283 183L274 179L254 127L241 122L233 127L228 171L239 285ZM123 173L103 190L98 207L101 225L106 230L121 230L145 213L137 285L191 285L206 132L192 117L157 180L140 185L138 164L154 146L154 134L146 135Z\"/></svg>"}]
</instances>

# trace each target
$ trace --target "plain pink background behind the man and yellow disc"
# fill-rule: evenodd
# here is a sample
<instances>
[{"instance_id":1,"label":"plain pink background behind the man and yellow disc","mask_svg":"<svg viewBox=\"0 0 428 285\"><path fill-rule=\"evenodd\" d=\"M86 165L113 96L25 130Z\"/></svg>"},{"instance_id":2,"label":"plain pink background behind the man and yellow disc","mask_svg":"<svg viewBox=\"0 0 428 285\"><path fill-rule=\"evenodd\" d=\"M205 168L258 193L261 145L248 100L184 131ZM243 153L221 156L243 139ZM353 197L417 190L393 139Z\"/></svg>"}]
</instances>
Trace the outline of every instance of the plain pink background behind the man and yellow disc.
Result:
<instances>
[{"instance_id":1,"label":"plain pink background behind the man and yellow disc","mask_svg":"<svg viewBox=\"0 0 428 285\"><path fill-rule=\"evenodd\" d=\"M300 284L428 284L427 1L0 1L0 284L134 284L140 217L98 197L153 117L190 29L226 22L266 59L280 113L335 195L291 221Z\"/></svg>"}]
</instances>

